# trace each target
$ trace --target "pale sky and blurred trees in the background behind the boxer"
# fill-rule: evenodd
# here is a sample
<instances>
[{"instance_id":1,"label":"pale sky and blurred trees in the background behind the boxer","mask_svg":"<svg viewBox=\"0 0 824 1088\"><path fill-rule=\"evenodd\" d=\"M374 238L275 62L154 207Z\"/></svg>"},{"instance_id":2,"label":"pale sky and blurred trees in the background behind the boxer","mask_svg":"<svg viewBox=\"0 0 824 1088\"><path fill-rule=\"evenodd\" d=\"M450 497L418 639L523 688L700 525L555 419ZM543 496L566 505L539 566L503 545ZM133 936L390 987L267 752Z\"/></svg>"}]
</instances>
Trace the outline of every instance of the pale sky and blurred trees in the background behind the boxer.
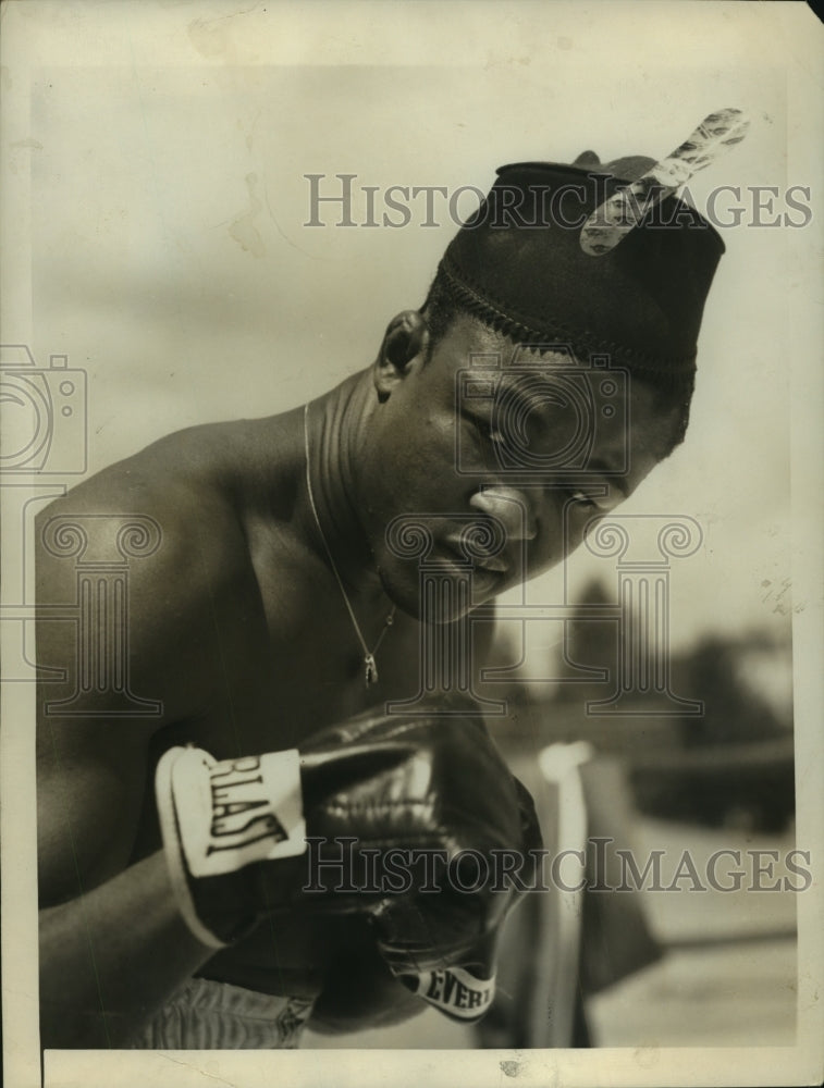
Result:
<instances>
[{"instance_id":1,"label":"pale sky and blurred trees in the background behind the boxer","mask_svg":"<svg viewBox=\"0 0 824 1088\"><path fill-rule=\"evenodd\" d=\"M183 426L303 403L368 366L390 318L422 302L454 231L443 205L436 226L425 225L420 199L404 227L336 226L331 205L325 225L307 226L307 174L323 175L324 195L340 193L336 174L355 175L352 217L362 224L364 187L485 190L496 165L570 161L587 148L602 161L661 158L711 111L748 112L747 140L690 185L702 209L728 186L716 210L730 225L689 435L622 508L700 526L696 553L673 564L667 654L672 690L704 713L587 709L610 695L619 634L591 607L616 605L615 570L582 551L513 597L582 611L500 625L503 671L491 687L509 715L491 727L545 820L583 814L589 833L639 857L784 857L795 845L794 602L788 319L776 284L788 281L799 232L758 223L783 222L787 187L807 180L787 173L775 27L751 5L697 18L677 4L664 14L600 5L597 16L376 4L368 17L362 5L337 16L304 5L298 17L271 4L250 24L216 3L180 4L173 24L168 4L132 23L110 16L96 38L75 35L74 7L54 9L32 69L30 138L15 152L32 178L32 336L7 322L3 339L28 342L40 368L58 354L85 370L89 472ZM768 212L755 209L758 186L774 190ZM564 682L570 668L580 682ZM601 679L581 680L581 669ZM578 769L556 774L567 766ZM507 1046L524 1009L545 1011L559 986L597 1046L789 1044L796 898L641 892L617 925L577 903L578 922L536 944L569 910L554 903L513 929L513 955L522 966L543 949L565 974L550 965L529 994L511 988L485 1038L427 1013L404 1029L310 1043ZM571 1040L575 1025L557 1030Z\"/></svg>"}]
</instances>

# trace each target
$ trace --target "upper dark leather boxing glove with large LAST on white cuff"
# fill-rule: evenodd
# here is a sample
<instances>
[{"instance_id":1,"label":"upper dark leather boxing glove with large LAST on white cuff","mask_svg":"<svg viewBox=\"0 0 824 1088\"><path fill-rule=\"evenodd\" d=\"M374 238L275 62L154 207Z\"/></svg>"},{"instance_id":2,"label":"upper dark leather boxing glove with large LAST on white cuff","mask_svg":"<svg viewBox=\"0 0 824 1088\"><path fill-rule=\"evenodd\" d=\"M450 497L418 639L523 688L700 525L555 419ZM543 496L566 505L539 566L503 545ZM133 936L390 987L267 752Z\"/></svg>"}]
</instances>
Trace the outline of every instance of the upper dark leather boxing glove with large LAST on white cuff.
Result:
<instances>
[{"instance_id":1,"label":"upper dark leather boxing glove with large LAST on white cuff","mask_svg":"<svg viewBox=\"0 0 824 1088\"><path fill-rule=\"evenodd\" d=\"M157 774L172 882L205 943L224 947L298 904L367 911L407 985L466 969L481 945L489 968L512 891L465 890L460 865L540 844L525 832L537 823L524 793L471 715L365 715L299 753L244 759L173 749Z\"/></svg>"}]
</instances>

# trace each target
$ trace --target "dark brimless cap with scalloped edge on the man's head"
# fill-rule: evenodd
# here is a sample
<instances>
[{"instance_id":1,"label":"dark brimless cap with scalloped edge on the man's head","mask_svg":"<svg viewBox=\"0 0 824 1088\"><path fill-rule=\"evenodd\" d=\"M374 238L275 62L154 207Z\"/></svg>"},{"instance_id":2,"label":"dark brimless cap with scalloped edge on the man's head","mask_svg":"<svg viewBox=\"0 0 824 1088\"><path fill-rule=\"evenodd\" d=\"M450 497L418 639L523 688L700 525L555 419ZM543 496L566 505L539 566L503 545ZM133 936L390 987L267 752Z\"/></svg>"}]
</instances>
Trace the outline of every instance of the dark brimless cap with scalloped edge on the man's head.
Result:
<instances>
[{"instance_id":1,"label":"dark brimless cap with scalloped edge on the man's head","mask_svg":"<svg viewBox=\"0 0 824 1088\"><path fill-rule=\"evenodd\" d=\"M580 244L585 221L652 161L601 165L586 152L578 165L501 166L441 262L451 293L514 339L568 344L581 361L608 354L659 385L691 385L704 302L724 252L714 227L669 196L608 252L591 256Z\"/></svg>"}]
</instances>

